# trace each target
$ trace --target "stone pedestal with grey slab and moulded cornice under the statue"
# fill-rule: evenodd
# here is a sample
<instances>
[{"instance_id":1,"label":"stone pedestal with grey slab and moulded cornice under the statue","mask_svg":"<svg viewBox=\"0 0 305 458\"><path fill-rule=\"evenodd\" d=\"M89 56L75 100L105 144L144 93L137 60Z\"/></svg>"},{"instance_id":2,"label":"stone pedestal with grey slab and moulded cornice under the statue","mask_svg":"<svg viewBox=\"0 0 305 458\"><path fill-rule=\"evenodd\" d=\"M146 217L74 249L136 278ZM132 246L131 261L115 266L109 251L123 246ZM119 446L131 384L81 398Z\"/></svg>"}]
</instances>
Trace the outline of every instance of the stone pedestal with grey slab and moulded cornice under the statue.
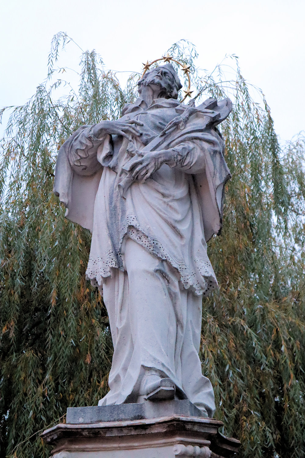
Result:
<instances>
[{"instance_id":1,"label":"stone pedestal with grey slab and moulded cornice under the statue","mask_svg":"<svg viewBox=\"0 0 305 458\"><path fill-rule=\"evenodd\" d=\"M67 423L42 437L53 458L227 458L240 442L221 435L222 425L189 401L146 402L68 409Z\"/></svg>"}]
</instances>

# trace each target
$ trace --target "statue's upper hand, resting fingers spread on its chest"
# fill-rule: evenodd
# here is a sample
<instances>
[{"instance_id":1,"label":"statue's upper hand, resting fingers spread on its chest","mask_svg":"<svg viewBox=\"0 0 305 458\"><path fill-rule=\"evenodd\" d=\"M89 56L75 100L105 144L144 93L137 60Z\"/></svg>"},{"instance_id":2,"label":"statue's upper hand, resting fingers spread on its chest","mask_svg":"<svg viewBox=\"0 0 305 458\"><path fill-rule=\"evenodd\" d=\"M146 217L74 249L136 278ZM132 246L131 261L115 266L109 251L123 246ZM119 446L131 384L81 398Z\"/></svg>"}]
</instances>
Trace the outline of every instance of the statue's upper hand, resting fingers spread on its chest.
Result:
<instances>
[{"instance_id":1,"label":"statue's upper hand, resting fingers spread on its chest","mask_svg":"<svg viewBox=\"0 0 305 458\"><path fill-rule=\"evenodd\" d=\"M122 135L128 140L131 140L131 136L140 136L142 132L135 127L135 125L143 125L143 122L131 119L128 121L102 121L96 124L92 133L96 138L101 138L104 134L110 135Z\"/></svg>"}]
</instances>

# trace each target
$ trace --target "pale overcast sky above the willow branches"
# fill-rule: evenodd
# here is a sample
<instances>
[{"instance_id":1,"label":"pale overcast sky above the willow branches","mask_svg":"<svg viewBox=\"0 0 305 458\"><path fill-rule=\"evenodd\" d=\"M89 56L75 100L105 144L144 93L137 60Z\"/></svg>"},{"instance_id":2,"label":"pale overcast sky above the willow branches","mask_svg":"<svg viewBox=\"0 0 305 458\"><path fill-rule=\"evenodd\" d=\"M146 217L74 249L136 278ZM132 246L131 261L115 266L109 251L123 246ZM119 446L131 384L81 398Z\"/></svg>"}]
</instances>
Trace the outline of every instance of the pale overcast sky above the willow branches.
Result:
<instances>
[{"instance_id":1,"label":"pale overcast sky above the willow branches","mask_svg":"<svg viewBox=\"0 0 305 458\"><path fill-rule=\"evenodd\" d=\"M139 71L181 38L197 46L198 66L210 71L226 54L238 55L243 75L265 93L280 139L305 129L304 0L3 1L1 107L32 96L59 31L118 71ZM61 64L75 67L79 57L69 44Z\"/></svg>"}]
</instances>

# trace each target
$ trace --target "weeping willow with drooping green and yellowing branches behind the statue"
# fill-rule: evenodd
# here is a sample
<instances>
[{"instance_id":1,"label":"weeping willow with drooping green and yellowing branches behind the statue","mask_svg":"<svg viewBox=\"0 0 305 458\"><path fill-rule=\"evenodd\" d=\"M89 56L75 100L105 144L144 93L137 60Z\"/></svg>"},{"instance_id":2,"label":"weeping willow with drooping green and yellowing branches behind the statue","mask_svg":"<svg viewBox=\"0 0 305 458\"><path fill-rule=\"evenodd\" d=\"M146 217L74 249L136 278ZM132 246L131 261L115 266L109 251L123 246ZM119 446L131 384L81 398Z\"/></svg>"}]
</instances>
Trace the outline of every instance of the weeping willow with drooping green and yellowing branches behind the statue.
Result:
<instances>
[{"instance_id":1,"label":"weeping willow with drooping green and yellowing branches behind the statue","mask_svg":"<svg viewBox=\"0 0 305 458\"><path fill-rule=\"evenodd\" d=\"M79 86L57 78L54 37L48 76L27 104L9 107L0 165L1 456L48 456L39 432L69 406L107 393L112 343L102 298L85 279L91 236L64 219L52 193L61 144L78 127L120 116L139 74L123 89L95 51L83 52ZM281 147L261 92L235 57L208 74L181 41L169 53L191 66L196 103L233 100L222 124L224 228L209 242L219 291L203 301L201 358L216 418L242 442L241 457L304 457L304 138ZM67 89L68 88L68 89ZM64 95L63 95L64 94Z\"/></svg>"}]
</instances>

